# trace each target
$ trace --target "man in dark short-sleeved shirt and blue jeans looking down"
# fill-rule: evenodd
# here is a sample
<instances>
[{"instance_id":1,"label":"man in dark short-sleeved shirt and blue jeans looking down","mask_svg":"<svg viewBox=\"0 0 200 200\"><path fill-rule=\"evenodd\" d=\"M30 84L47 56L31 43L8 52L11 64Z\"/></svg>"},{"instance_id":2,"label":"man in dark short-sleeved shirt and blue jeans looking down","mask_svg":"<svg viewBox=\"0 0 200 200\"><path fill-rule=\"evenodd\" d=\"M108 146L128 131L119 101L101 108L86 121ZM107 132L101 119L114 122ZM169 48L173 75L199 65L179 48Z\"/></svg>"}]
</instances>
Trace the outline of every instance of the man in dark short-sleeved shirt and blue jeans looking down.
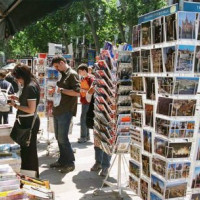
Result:
<instances>
[{"instance_id":1,"label":"man in dark short-sleeved shirt and blue jeans looking down","mask_svg":"<svg viewBox=\"0 0 200 200\"><path fill-rule=\"evenodd\" d=\"M53 107L54 130L60 156L55 163L50 164L50 168L57 168L61 173L69 173L75 169L75 157L68 134L72 117L76 116L77 112L80 82L77 72L71 69L62 56L55 56L52 65L62 77L57 82L57 92L61 93L60 104Z\"/></svg>"}]
</instances>

